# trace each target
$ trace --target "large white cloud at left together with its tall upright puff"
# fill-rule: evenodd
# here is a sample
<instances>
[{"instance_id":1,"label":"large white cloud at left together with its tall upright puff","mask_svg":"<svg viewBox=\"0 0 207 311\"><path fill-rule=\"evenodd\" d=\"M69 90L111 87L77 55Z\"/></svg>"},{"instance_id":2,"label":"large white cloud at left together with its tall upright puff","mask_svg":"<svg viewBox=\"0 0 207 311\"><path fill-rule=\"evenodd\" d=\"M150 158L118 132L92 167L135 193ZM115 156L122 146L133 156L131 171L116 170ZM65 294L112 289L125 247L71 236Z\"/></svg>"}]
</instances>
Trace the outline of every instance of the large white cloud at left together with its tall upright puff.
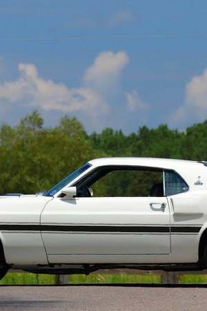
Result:
<instances>
[{"instance_id":1,"label":"large white cloud at left together with its tall upright puff","mask_svg":"<svg viewBox=\"0 0 207 311\"><path fill-rule=\"evenodd\" d=\"M18 79L0 84L0 100L11 104L21 102L21 105L41 107L45 111L83 111L91 116L92 113L96 116L107 113L106 97L115 90L128 61L124 51L101 53L86 70L82 84L77 88L42 79L34 64L19 64Z\"/></svg>"}]
</instances>

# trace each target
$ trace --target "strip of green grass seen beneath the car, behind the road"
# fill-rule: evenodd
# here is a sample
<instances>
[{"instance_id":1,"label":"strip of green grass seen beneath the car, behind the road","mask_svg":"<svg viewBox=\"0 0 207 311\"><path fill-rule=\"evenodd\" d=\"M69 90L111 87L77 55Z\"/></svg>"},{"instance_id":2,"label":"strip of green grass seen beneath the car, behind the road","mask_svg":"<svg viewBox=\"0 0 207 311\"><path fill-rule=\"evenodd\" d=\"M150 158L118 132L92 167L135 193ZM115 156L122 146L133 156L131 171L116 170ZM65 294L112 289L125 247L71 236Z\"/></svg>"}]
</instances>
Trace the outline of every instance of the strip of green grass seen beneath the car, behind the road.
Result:
<instances>
[{"instance_id":1,"label":"strip of green grass seen beneath the car, behind the road","mask_svg":"<svg viewBox=\"0 0 207 311\"><path fill-rule=\"evenodd\" d=\"M182 275L178 283L207 283L207 275ZM75 274L68 276L69 284L104 284L104 283L161 283L160 275L106 275ZM54 285L55 275L8 273L0 281L0 285Z\"/></svg>"}]
</instances>

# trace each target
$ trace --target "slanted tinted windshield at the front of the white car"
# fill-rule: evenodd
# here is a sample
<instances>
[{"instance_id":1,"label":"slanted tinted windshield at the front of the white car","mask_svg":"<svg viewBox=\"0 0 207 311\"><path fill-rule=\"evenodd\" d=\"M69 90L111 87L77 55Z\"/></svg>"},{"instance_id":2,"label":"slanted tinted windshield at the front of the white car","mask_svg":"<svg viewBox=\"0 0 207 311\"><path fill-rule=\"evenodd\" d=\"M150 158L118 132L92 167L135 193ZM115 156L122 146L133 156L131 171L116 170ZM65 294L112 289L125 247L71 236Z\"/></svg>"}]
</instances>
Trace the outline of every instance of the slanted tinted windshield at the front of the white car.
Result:
<instances>
[{"instance_id":1,"label":"slanted tinted windshield at the front of the white car","mask_svg":"<svg viewBox=\"0 0 207 311\"><path fill-rule=\"evenodd\" d=\"M46 194L43 194L43 196L55 196L55 194L57 194L58 191L60 191L63 187L65 187L70 182L72 182L72 180L74 180L79 175L81 175L81 173L86 171L86 169L88 169L89 167L91 167L91 164L89 163L83 165L83 167L81 167L80 169L77 169L76 171L68 175L66 178L61 180L57 185L55 185L55 187L52 187L52 189L46 192Z\"/></svg>"}]
</instances>

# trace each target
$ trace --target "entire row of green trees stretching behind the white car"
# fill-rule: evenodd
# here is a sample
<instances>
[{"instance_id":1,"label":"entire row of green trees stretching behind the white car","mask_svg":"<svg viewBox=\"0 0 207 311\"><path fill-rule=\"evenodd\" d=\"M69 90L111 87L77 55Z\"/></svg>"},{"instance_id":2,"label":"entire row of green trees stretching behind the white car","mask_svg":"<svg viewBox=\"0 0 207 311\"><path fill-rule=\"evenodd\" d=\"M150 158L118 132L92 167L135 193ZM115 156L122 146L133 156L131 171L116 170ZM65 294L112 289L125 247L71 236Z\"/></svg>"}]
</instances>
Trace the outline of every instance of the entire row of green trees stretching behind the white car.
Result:
<instances>
[{"instance_id":1,"label":"entire row of green trees stretching behind the white car","mask_svg":"<svg viewBox=\"0 0 207 311\"><path fill-rule=\"evenodd\" d=\"M0 128L0 193L34 194L50 189L88 160L132 156L207 160L207 120L180 132L161 124L124 135L112 128L88 135L76 117L66 115L53 128L38 111L17 126Z\"/></svg>"}]
</instances>

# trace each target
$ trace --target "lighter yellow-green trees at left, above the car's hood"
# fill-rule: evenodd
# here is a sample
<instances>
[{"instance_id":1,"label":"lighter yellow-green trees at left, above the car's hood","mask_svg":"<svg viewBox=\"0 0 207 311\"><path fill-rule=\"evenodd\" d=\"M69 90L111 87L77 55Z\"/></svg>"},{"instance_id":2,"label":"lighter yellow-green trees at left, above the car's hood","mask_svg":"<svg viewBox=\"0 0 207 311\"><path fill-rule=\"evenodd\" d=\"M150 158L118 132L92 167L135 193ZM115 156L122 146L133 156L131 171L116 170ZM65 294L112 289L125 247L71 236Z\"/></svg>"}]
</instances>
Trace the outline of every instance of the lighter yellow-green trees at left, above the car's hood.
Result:
<instances>
[{"instance_id":1,"label":"lighter yellow-green trees at left, above the car's hood","mask_svg":"<svg viewBox=\"0 0 207 311\"><path fill-rule=\"evenodd\" d=\"M1 193L50 189L91 158L103 156L75 117L63 117L54 129L44 129L37 111L14 128L3 124L0 142Z\"/></svg>"}]
</instances>

